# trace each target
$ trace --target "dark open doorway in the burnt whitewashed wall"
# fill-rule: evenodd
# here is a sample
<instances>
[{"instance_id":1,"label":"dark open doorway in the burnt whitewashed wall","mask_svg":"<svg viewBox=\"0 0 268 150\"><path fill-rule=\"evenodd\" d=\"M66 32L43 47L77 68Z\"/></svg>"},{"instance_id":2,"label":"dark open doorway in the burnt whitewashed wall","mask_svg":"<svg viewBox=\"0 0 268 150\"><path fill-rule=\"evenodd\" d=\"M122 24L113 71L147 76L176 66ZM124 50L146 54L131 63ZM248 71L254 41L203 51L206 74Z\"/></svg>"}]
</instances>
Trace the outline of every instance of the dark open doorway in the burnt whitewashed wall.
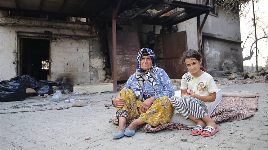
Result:
<instances>
[{"instance_id":1,"label":"dark open doorway in the burnt whitewashed wall","mask_svg":"<svg viewBox=\"0 0 268 150\"><path fill-rule=\"evenodd\" d=\"M50 39L20 37L20 75L50 79Z\"/></svg>"}]
</instances>

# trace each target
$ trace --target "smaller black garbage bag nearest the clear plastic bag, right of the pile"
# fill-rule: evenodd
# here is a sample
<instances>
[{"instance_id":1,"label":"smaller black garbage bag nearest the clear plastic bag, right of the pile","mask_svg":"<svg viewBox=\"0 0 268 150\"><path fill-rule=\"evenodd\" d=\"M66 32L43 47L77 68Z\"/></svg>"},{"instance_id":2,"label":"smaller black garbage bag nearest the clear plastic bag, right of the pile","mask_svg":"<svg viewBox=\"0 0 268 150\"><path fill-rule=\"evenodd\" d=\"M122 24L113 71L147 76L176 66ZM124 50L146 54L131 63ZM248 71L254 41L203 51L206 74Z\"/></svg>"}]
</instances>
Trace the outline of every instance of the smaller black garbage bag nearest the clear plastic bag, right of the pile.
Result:
<instances>
[{"instance_id":1,"label":"smaller black garbage bag nearest the clear plastic bag, right of the pile","mask_svg":"<svg viewBox=\"0 0 268 150\"><path fill-rule=\"evenodd\" d=\"M52 94L53 93L53 88L52 86L57 85L57 82L54 81L48 81L48 80L39 80L38 81L38 87L34 88L36 93L33 93L33 96L38 96L38 95L44 95L44 94Z\"/></svg>"}]
</instances>

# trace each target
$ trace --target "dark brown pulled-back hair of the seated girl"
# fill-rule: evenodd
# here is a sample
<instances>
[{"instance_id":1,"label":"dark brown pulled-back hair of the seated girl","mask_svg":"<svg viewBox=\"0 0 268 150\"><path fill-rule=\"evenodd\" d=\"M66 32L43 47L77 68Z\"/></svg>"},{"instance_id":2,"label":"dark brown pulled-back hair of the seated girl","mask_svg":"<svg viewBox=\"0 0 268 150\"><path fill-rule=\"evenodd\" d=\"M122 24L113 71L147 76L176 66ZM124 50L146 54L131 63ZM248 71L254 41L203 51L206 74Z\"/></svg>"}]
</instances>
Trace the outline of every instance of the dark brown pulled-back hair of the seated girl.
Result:
<instances>
[{"instance_id":1,"label":"dark brown pulled-back hair of the seated girl","mask_svg":"<svg viewBox=\"0 0 268 150\"><path fill-rule=\"evenodd\" d=\"M188 69L187 66L184 64L186 58L195 58L199 62L201 58L203 59L203 56L194 49L189 49L188 51L184 52L181 56L181 59L180 59L181 65L184 67L184 70ZM201 65L200 65L200 69L204 72L207 72L207 70Z\"/></svg>"}]
</instances>

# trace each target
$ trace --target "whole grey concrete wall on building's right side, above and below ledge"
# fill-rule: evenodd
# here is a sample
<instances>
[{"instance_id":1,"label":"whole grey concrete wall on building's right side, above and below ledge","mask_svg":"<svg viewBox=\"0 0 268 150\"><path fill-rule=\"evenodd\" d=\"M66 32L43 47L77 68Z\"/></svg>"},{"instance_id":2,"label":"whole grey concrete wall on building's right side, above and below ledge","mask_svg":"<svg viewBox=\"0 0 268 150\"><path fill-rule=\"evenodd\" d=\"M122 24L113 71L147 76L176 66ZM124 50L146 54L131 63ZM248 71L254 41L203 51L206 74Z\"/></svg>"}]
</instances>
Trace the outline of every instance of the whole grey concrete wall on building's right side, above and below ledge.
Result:
<instances>
[{"instance_id":1,"label":"whole grey concrete wall on building's right side, above and below ledge","mask_svg":"<svg viewBox=\"0 0 268 150\"><path fill-rule=\"evenodd\" d=\"M231 71L243 72L239 19L229 24L223 7L216 10L219 15L209 14L202 29L204 67L213 76ZM200 24L204 16L200 16ZM179 23L177 27L178 32L186 31L188 49L198 50L197 18Z\"/></svg>"}]
</instances>

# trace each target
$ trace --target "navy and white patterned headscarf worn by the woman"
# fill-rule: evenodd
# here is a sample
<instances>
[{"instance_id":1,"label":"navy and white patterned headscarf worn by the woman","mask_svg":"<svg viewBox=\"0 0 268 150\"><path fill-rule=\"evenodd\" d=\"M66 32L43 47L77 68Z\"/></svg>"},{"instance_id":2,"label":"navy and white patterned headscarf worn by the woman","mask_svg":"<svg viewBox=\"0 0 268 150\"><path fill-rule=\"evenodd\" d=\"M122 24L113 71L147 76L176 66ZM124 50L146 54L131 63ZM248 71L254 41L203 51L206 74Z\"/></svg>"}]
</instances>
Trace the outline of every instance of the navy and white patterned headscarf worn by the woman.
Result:
<instances>
[{"instance_id":1,"label":"navy and white patterned headscarf worn by the woman","mask_svg":"<svg viewBox=\"0 0 268 150\"><path fill-rule=\"evenodd\" d=\"M144 50L150 54L151 59L152 59L152 68L148 70L141 69L141 56ZM150 50L149 48L142 48L138 53L137 60L138 62L136 65L136 79L138 80L138 84L136 85L135 94L141 101L144 101L142 97L142 87L143 87L143 82L145 80L148 80L149 84L153 86L154 95L157 95L156 80L155 80L155 75L154 75L154 73L157 70L155 70L156 63L155 63L154 51Z\"/></svg>"}]
</instances>

